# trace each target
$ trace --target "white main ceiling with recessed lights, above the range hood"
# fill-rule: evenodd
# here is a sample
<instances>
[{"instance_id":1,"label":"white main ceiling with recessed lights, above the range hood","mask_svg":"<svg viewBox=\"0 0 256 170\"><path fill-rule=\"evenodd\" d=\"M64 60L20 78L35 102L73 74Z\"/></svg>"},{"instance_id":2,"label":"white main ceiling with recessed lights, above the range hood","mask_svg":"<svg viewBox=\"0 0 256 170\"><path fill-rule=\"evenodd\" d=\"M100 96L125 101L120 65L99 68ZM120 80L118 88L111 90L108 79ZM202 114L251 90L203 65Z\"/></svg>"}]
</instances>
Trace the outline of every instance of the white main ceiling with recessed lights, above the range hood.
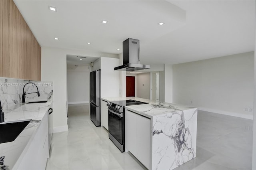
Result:
<instances>
[{"instance_id":1,"label":"white main ceiling with recessed lights, above the range hood","mask_svg":"<svg viewBox=\"0 0 256 170\"><path fill-rule=\"evenodd\" d=\"M118 54L122 42L134 38L140 40L144 64L184 63L254 51L253 0L14 2L41 46ZM57 12L48 6L57 7ZM159 26L159 22L166 24Z\"/></svg>"}]
</instances>

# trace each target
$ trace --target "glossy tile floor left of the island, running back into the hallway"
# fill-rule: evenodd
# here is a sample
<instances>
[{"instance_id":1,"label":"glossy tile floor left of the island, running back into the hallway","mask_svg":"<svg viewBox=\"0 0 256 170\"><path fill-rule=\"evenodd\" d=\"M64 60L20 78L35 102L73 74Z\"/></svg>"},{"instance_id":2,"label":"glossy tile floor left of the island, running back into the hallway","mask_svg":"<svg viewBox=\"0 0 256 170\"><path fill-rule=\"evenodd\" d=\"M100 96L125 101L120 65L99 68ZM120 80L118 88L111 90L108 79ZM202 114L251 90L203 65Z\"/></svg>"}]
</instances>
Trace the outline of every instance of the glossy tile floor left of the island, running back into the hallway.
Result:
<instances>
[{"instance_id":1,"label":"glossy tile floor left of the island, running back into the hallway","mask_svg":"<svg viewBox=\"0 0 256 170\"><path fill-rule=\"evenodd\" d=\"M46 170L143 170L130 152L121 153L108 131L95 127L89 105L68 105L68 132L54 133Z\"/></svg>"}]
</instances>

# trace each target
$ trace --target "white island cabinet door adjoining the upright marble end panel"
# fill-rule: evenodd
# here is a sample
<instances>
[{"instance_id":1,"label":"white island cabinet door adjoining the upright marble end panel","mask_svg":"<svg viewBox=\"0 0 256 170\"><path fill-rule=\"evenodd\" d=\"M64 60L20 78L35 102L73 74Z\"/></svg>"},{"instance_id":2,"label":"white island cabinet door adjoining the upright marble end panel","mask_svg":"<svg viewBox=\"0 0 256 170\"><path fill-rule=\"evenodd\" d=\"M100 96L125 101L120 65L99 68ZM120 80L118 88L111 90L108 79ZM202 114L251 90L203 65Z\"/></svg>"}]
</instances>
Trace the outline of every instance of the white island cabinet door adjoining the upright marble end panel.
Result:
<instances>
[{"instance_id":1,"label":"white island cabinet door adjoining the upright marble end panel","mask_svg":"<svg viewBox=\"0 0 256 170\"><path fill-rule=\"evenodd\" d=\"M136 116L136 158L146 168L150 164L150 119Z\"/></svg>"}]
</instances>

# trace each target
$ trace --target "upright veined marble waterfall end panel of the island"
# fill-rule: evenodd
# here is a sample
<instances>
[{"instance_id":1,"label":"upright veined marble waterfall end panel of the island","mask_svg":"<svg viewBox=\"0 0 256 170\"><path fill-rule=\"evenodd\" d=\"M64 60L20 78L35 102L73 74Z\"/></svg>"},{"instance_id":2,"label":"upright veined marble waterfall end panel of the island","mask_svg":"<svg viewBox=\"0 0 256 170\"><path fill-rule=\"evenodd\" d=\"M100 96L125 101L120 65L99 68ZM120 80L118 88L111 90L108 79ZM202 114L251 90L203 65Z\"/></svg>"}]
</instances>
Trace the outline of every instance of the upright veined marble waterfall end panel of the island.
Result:
<instances>
[{"instance_id":1,"label":"upright veined marble waterfall end panel of the island","mask_svg":"<svg viewBox=\"0 0 256 170\"><path fill-rule=\"evenodd\" d=\"M196 157L197 109L152 117L152 169L172 170Z\"/></svg>"}]
</instances>

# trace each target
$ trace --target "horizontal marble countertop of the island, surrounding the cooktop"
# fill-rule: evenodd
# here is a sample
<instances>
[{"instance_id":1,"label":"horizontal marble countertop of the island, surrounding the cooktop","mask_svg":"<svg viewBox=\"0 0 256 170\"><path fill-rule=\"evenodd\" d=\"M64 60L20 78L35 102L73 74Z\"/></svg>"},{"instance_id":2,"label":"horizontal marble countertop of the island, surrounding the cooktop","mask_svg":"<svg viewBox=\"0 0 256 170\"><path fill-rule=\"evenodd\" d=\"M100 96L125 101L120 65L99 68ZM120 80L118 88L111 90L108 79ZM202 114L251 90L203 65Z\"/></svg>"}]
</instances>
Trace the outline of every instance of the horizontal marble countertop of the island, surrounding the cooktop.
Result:
<instances>
[{"instance_id":1,"label":"horizontal marble countertop of the island, surrounding the cooktop","mask_svg":"<svg viewBox=\"0 0 256 170\"><path fill-rule=\"evenodd\" d=\"M148 104L126 106L125 109L133 111L134 113L143 115L148 118L152 118L158 115L164 115L166 113L174 113L178 111L195 109L195 107L193 106L165 103L159 101L150 101L149 99L142 99L139 97L105 97L101 99L105 101L119 101L132 99L136 101L146 102Z\"/></svg>"}]
</instances>

